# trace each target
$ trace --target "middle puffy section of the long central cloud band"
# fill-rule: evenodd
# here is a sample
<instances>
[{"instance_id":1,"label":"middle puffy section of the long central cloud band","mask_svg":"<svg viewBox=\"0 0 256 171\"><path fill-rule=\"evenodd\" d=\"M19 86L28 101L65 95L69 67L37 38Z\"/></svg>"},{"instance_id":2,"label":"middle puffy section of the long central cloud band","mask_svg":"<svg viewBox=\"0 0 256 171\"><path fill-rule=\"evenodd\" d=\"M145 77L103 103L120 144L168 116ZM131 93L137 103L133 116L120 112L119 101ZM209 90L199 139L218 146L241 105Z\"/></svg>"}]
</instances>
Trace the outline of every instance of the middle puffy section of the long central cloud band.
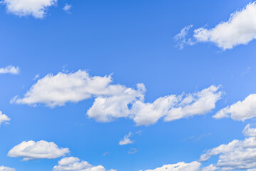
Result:
<instances>
[{"instance_id":1,"label":"middle puffy section of the long central cloud band","mask_svg":"<svg viewBox=\"0 0 256 171\"><path fill-rule=\"evenodd\" d=\"M115 118L132 117L129 105L144 99L145 86L138 84L137 89L126 88L126 86L111 86L115 95L101 95L95 99L93 106L88 110L89 118L100 122L110 122Z\"/></svg>"}]
</instances>

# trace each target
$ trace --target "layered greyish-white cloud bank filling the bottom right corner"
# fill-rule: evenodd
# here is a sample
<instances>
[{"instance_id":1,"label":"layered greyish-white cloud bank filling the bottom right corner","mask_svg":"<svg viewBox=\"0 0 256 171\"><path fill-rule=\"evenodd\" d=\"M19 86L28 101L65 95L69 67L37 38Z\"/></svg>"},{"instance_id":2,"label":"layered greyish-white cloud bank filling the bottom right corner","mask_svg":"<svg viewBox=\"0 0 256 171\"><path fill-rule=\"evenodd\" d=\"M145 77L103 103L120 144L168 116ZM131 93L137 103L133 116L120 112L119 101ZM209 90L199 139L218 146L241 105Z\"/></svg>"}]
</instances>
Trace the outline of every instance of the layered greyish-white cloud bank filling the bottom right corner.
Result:
<instances>
[{"instance_id":1,"label":"layered greyish-white cloud bank filling the bottom right corner","mask_svg":"<svg viewBox=\"0 0 256 171\"><path fill-rule=\"evenodd\" d=\"M249 130L248 130L249 129ZM250 125L243 131L247 136L245 140L232 140L228 144L208 150L201 155L200 161L209 160L210 157L218 156L216 166L222 170L253 170L256 167L256 137L250 129Z\"/></svg>"}]
</instances>

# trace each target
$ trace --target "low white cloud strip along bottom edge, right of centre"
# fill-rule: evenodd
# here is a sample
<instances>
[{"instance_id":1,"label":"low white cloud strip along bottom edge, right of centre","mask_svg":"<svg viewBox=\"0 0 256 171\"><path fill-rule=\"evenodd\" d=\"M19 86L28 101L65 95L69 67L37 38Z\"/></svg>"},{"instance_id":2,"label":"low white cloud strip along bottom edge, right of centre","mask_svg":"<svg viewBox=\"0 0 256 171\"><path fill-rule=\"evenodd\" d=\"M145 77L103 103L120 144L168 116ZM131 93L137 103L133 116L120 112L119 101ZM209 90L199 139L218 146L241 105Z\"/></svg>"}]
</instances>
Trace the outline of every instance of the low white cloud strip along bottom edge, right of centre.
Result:
<instances>
[{"instance_id":1,"label":"low white cloud strip along bottom edge, right of centre","mask_svg":"<svg viewBox=\"0 0 256 171\"><path fill-rule=\"evenodd\" d=\"M163 165L162 167L155 168L153 170L145 171L214 171L217 167L210 165L208 167L201 167L200 162L178 162L177 164ZM140 170L142 171L142 170Z\"/></svg>"}]
</instances>

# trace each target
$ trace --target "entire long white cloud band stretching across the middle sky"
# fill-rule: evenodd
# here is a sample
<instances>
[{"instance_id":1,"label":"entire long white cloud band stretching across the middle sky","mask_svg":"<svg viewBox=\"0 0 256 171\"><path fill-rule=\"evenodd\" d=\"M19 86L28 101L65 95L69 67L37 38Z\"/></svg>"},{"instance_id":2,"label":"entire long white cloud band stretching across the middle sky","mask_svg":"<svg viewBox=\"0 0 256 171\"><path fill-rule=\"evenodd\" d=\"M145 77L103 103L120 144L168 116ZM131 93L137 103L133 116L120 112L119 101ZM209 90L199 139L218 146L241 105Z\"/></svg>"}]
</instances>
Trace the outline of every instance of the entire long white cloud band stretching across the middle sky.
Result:
<instances>
[{"instance_id":1,"label":"entire long white cloud band stretching across the middle sky","mask_svg":"<svg viewBox=\"0 0 256 171\"><path fill-rule=\"evenodd\" d=\"M51 108L95 98L88 110L89 118L99 122L110 122L116 118L131 118L137 125L150 125L160 118L165 121L204 115L215 108L220 100L220 86L210 86L197 93L166 95L153 103L145 103L145 86L127 88L111 84L111 76L91 77L86 71L76 73L48 74L35 83L24 98L14 98L11 102L36 105L44 103Z\"/></svg>"}]
</instances>

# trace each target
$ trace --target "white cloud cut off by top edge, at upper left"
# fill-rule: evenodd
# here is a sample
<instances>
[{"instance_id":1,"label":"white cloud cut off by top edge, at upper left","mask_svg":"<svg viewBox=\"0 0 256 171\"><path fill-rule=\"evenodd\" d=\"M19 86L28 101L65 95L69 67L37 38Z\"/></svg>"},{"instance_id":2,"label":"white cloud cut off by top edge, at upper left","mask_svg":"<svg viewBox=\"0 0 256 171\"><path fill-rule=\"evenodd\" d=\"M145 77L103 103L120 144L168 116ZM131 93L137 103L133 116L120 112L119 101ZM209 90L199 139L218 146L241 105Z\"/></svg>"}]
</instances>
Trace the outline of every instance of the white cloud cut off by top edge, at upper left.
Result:
<instances>
[{"instance_id":1,"label":"white cloud cut off by top edge, at upper left","mask_svg":"<svg viewBox=\"0 0 256 171\"><path fill-rule=\"evenodd\" d=\"M57 3L57 0L3 0L9 13L17 16L34 16L43 18L48 7Z\"/></svg>"}]
</instances>

